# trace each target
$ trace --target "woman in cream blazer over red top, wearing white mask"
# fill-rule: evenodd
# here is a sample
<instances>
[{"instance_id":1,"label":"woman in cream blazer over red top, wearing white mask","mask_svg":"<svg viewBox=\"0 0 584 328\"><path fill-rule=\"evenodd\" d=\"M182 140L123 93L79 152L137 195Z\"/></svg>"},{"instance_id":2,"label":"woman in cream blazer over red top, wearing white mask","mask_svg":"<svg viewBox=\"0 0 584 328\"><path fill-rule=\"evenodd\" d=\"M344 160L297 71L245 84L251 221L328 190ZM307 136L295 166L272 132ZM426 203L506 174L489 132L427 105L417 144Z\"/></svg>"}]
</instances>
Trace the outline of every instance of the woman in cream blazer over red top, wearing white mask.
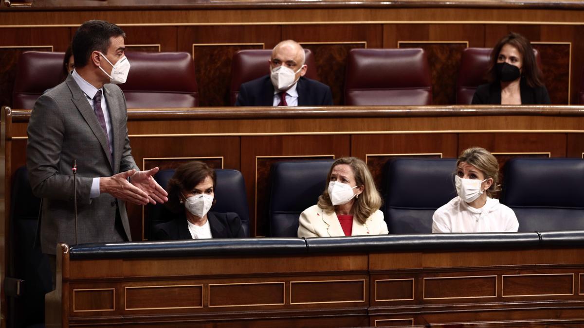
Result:
<instances>
[{"instance_id":1,"label":"woman in cream blazer over red top, wearing white mask","mask_svg":"<svg viewBox=\"0 0 584 328\"><path fill-rule=\"evenodd\" d=\"M300 214L298 237L387 235L381 196L363 160L337 159L327 181L318 204Z\"/></svg>"}]
</instances>

